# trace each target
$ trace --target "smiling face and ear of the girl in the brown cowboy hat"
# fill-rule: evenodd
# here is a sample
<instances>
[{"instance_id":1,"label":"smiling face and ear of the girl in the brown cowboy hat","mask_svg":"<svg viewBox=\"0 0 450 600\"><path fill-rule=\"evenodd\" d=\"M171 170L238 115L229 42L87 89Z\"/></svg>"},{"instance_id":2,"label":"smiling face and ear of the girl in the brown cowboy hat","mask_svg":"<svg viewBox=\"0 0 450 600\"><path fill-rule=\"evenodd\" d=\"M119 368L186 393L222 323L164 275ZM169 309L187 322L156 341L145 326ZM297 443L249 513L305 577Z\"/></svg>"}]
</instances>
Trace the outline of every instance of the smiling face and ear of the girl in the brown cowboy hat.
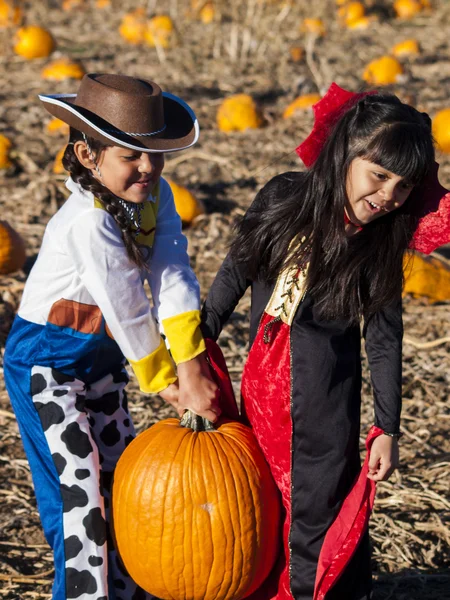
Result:
<instances>
[{"instance_id":1,"label":"smiling face and ear of the girl in the brown cowboy hat","mask_svg":"<svg viewBox=\"0 0 450 600\"><path fill-rule=\"evenodd\" d=\"M75 143L78 160L115 196L140 204L153 192L164 168L162 152L139 152L120 146L104 148L96 158L101 178L84 142Z\"/></svg>"}]
</instances>

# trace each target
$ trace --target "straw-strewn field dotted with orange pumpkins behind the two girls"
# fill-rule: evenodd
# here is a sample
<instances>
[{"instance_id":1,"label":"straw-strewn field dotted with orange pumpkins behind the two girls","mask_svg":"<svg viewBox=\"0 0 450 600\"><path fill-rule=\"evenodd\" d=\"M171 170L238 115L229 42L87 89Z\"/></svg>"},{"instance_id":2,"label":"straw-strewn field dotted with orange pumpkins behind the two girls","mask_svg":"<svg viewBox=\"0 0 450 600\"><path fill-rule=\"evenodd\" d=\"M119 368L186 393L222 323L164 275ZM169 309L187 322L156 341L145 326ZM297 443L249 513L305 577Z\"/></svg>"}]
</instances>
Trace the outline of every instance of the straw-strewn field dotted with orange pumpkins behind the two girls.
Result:
<instances>
[{"instance_id":1,"label":"straw-strewn field dotted with orange pumpkins behind the two girls","mask_svg":"<svg viewBox=\"0 0 450 600\"><path fill-rule=\"evenodd\" d=\"M115 72L155 80L192 106L200 141L167 156L164 176L204 298L258 189L302 169L295 148L333 81L427 112L450 188L449 31L450 0L0 0L0 600L51 598L53 578L2 376L27 275L67 197L67 128L37 95ZM404 436L371 520L374 600L450 598L449 261L450 246L405 261ZM237 397L249 310L247 294L220 338ZM132 374L127 389L138 432L177 416ZM361 449L372 421L365 368Z\"/></svg>"}]
</instances>

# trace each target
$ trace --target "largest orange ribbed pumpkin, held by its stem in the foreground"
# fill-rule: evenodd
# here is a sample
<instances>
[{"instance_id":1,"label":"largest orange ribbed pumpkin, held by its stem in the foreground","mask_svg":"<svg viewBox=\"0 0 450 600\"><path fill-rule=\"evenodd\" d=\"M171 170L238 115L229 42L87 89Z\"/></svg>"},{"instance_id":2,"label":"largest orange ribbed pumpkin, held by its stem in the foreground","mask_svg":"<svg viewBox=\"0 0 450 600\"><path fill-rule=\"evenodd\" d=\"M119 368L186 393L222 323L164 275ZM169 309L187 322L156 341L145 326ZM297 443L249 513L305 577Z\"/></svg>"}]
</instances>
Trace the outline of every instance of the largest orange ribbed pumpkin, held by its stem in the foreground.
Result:
<instances>
[{"instance_id":1,"label":"largest orange ribbed pumpkin, held by its stem in the foreground","mask_svg":"<svg viewBox=\"0 0 450 600\"><path fill-rule=\"evenodd\" d=\"M215 429L187 412L156 423L120 458L112 498L122 561L163 600L245 598L277 557L279 493L236 421Z\"/></svg>"}]
</instances>

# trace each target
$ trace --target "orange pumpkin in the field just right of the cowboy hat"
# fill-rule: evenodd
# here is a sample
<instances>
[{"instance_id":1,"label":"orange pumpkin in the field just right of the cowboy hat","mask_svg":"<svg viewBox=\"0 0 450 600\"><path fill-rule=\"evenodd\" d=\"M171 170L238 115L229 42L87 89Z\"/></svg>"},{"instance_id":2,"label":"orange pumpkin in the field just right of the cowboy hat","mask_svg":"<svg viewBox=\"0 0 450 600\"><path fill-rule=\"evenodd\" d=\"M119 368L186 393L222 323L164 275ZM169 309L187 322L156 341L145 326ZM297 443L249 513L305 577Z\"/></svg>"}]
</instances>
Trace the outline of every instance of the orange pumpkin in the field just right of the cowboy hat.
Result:
<instances>
[{"instance_id":1,"label":"orange pumpkin in the field just right of the cowboy hat","mask_svg":"<svg viewBox=\"0 0 450 600\"><path fill-rule=\"evenodd\" d=\"M256 102L248 94L225 98L217 110L220 131L245 131L262 127L264 120Z\"/></svg>"}]
</instances>

